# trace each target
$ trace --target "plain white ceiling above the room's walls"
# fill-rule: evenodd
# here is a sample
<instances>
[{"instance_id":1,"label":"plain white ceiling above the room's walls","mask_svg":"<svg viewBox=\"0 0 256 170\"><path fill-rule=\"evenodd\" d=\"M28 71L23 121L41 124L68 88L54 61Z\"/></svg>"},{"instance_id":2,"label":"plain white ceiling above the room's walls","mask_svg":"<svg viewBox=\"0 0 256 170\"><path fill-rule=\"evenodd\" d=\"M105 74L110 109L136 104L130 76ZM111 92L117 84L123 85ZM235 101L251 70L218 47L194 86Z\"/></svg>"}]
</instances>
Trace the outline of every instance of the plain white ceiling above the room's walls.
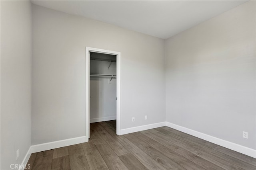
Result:
<instances>
[{"instance_id":1,"label":"plain white ceiling above the room's walls","mask_svg":"<svg viewBox=\"0 0 256 170\"><path fill-rule=\"evenodd\" d=\"M246 0L32 0L33 4L85 16L167 39Z\"/></svg>"}]
</instances>

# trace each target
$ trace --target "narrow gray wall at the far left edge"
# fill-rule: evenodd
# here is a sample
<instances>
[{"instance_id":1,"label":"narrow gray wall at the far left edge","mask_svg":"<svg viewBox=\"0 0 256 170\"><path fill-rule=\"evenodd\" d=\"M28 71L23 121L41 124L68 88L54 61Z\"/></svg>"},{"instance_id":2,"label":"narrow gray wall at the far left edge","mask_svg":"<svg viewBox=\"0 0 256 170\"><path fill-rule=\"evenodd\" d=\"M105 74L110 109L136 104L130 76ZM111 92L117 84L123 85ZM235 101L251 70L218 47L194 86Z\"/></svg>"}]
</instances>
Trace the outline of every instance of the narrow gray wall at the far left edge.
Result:
<instances>
[{"instance_id":1,"label":"narrow gray wall at the far left edge","mask_svg":"<svg viewBox=\"0 0 256 170\"><path fill-rule=\"evenodd\" d=\"M31 145L31 21L30 1L1 1L2 170Z\"/></svg>"}]
</instances>

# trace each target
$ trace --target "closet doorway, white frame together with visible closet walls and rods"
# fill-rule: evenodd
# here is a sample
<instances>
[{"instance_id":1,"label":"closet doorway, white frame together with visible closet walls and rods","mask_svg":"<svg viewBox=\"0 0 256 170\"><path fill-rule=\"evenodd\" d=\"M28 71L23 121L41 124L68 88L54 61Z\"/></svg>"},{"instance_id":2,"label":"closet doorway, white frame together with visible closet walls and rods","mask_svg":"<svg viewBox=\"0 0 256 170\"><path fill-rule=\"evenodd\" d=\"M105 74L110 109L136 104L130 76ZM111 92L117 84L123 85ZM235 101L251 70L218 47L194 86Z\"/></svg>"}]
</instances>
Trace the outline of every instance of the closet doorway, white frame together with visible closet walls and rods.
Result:
<instances>
[{"instance_id":1,"label":"closet doorway, white frame together with visible closet walls and rods","mask_svg":"<svg viewBox=\"0 0 256 170\"><path fill-rule=\"evenodd\" d=\"M86 141L94 122L116 118L120 133L120 58L120 52L86 47Z\"/></svg>"}]
</instances>

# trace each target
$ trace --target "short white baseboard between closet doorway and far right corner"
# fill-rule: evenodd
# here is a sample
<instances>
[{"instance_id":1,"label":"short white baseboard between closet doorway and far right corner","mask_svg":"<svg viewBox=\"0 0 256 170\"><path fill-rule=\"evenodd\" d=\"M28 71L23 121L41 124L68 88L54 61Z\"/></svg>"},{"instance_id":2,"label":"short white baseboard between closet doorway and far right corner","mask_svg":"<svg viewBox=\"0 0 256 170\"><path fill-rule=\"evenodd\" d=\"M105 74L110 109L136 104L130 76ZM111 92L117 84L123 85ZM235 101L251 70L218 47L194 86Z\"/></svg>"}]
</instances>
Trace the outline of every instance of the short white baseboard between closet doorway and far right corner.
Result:
<instances>
[{"instance_id":1,"label":"short white baseboard between closet doorway and far right corner","mask_svg":"<svg viewBox=\"0 0 256 170\"><path fill-rule=\"evenodd\" d=\"M125 135L128 133L133 133L133 132L138 132L138 131L145 131L148 129L153 129L153 128L157 128L157 127L163 127L166 125L166 122L160 122L160 123L153 123L150 125L142 125L142 126L137 126L137 127L131 127L131 128L127 128L127 129L121 129L120 134L119 135Z\"/></svg>"}]
</instances>

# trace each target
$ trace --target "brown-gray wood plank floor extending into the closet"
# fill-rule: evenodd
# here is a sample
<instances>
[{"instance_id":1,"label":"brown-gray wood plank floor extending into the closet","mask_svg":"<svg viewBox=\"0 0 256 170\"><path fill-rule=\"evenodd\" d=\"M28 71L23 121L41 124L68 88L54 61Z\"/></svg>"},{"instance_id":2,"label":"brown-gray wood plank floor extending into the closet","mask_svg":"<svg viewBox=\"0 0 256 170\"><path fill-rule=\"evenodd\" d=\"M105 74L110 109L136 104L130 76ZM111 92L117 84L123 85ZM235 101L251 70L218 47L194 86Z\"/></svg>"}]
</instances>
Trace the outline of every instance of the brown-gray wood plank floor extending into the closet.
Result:
<instances>
[{"instance_id":1,"label":"brown-gray wood plank floor extending into the closet","mask_svg":"<svg viewBox=\"0 0 256 170\"><path fill-rule=\"evenodd\" d=\"M32 170L256 170L256 159L169 127L116 135L90 124L88 143L33 153ZM28 168L28 166L27 166Z\"/></svg>"}]
</instances>

